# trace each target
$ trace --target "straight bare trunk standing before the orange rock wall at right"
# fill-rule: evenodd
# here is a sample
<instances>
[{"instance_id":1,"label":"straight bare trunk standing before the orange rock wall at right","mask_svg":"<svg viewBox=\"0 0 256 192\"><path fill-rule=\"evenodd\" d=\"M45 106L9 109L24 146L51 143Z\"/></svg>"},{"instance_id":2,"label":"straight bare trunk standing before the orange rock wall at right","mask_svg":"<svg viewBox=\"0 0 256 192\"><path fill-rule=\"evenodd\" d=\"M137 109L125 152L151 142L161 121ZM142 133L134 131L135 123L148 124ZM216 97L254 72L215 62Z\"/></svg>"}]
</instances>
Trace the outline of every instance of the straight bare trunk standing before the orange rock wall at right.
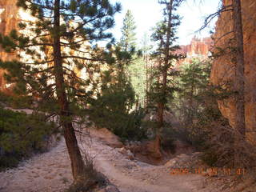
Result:
<instances>
[{"instance_id":1,"label":"straight bare trunk standing before the orange rock wall at right","mask_svg":"<svg viewBox=\"0 0 256 192\"><path fill-rule=\"evenodd\" d=\"M242 33L242 13L240 0L233 0L234 37L236 41L236 67L234 86L236 89L236 122L235 129L245 136L245 77L244 77L244 50Z\"/></svg>"}]
</instances>

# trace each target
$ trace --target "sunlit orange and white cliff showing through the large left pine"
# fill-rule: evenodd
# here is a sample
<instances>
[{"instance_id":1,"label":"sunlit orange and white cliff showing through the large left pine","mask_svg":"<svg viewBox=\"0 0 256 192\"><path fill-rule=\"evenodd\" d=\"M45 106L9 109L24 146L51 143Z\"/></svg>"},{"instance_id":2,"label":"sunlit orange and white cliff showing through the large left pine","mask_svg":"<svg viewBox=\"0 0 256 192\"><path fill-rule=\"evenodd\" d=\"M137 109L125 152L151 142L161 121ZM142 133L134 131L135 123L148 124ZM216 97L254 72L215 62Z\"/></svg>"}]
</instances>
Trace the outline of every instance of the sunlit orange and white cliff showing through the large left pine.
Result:
<instances>
[{"instance_id":1,"label":"sunlit orange and white cliff showing through the large left pine","mask_svg":"<svg viewBox=\"0 0 256 192\"><path fill-rule=\"evenodd\" d=\"M32 17L29 10L23 10L22 8L18 8L18 6L16 6L16 2L17 0L1 0L0 1L0 34L8 35L10 34L11 30L16 29L20 34L26 34L30 36L30 38L32 38L34 37L34 33L31 32L30 30L18 29L18 22L35 22L37 18ZM76 26L77 23L70 22L70 25ZM83 49L82 50L86 51L87 49L86 47L89 46L89 44L86 42L83 42L83 43L84 43L84 46L83 46L84 50ZM44 57L44 55L51 55L51 52L52 52L50 46L46 47L46 51L44 52L42 52L41 50L38 50L38 47L35 49L38 51L38 54L41 54L42 57ZM82 56L80 52L70 50L67 47L63 48L63 51L69 52L69 53L70 51L72 51L73 55L79 55L80 57ZM0 47L0 59L2 59L3 61L11 61L15 59L17 53L22 55L22 58L20 59L21 62L24 62L24 63L33 62L33 59L30 57L30 55L27 55L24 51L21 51L21 52L16 51L15 53L6 53ZM86 54L86 56L88 55ZM52 63L48 63L48 65L52 65ZM46 64L42 64L40 67L45 68L46 66L47 66ZM69 68L70 70L74 70L74 73L77 74L79 78L84 78L84 79L88 78L86 69L82 69L82 70L78 69L78 67L74 64L74 62L71 62L71 64L69 63L68 65L66 65L66 67ZM3 77L5 72L6 72L5 70L0 69L0 91L8 94L12 94L12 87L14 85L6 84L6 80ZM37 95L34 95L34 96L37 97Z\"/></svg>"}]
</instances>

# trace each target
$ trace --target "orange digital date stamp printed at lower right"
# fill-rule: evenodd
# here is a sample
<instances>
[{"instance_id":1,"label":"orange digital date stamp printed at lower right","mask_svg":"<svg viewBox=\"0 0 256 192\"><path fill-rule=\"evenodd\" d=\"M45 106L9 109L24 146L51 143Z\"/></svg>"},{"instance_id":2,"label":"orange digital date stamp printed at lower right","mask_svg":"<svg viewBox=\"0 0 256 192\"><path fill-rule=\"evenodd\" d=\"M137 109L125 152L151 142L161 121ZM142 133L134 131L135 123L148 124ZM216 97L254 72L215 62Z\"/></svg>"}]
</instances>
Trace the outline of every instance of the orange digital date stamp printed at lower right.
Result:
<instances>
[{"instance_id":1,"label":"orange digital date stamp printed at lower right","mask_svg":"<svg viewBox=\"0 0 256 192\"><path fill-rule=\"evenodd\" d=\"M195 168L194 170L189 170L187 168L174 168L170 169L170 174L210 174L210 175L218 175L218 174L224 174L224 175L242 175L246 174L246 169L238 168L238 169L230 169L230 168Z\"/></svg>"}]
</instances>

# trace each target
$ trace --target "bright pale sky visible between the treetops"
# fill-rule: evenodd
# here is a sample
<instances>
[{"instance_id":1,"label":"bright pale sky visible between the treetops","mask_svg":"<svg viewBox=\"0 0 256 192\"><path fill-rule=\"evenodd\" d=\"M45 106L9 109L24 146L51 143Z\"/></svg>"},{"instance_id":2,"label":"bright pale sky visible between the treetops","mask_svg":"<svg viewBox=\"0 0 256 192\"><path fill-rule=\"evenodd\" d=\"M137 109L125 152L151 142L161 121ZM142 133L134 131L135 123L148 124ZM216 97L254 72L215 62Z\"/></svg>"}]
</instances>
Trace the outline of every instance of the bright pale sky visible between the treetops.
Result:
<instances>
[{"instance_id":1,"label":"bright pale sky visible between the treetops","mask_svg":"<svg viewBox=\"0 0 256 192\"><path fill-rule=\"evenodd\" d=\"M112 30L117 39L122 35L122 19L127 10L131 10L134 15L138 39L141 39L144 32L149 32L154 26L154 23L160 21L162 18L162 6L158 4L158 0L111 0L110 2L122 3L122 13L115 15L116 25ZM186 45L190 43L191 38L195 35L194 32L202 26L203 19L209 13L214 13L215 10L217 10L218 3L218 0L205 0L202 2L188 0L182 3L182 6L178 10L178 14L182 17L182 24L178 29L179 44ZM214 22L215 21L216 20L214 20ZM214 22L211 23L211 26L214 26ZM202 33L198 35L209 37L209 29L202 31Z\"/></svg>"}]
</instances>

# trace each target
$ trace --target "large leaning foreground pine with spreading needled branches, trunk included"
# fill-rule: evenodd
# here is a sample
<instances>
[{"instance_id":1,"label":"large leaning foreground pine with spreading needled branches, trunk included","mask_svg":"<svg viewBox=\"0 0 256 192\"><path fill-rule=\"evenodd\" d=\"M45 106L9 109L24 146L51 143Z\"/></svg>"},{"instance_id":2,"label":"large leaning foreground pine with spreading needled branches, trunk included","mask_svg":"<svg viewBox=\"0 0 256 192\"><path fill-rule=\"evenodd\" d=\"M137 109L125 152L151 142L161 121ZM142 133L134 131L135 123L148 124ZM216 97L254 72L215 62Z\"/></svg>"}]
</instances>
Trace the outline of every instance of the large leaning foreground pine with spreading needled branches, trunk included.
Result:
<instances>
[{"instance_id":1,"label":"large leaning foreground pine with spreading needled branches, trunk included","mask_svg":"<svg viewBox=\"0 0 256 192\"><path fill-rule=\"evenodd\" d=\"M1 66L8 70L6 78L15 83L19 94L33 94L45 106L40 110L59 115L74 181L79 181L85 169L72 124L79 114L73 108L85 106L84 98L93 93L86 91L90 79L78 77L76 71L86 68L88 72L94 62L113 61L94 42L111 38L106 30L114 26L113 16L121 6L107 0L18 0L17 5L36 20L21 22L19 32L1 36L2 48L18 52L20 58Z\"/></svg>"}]
</instances>

